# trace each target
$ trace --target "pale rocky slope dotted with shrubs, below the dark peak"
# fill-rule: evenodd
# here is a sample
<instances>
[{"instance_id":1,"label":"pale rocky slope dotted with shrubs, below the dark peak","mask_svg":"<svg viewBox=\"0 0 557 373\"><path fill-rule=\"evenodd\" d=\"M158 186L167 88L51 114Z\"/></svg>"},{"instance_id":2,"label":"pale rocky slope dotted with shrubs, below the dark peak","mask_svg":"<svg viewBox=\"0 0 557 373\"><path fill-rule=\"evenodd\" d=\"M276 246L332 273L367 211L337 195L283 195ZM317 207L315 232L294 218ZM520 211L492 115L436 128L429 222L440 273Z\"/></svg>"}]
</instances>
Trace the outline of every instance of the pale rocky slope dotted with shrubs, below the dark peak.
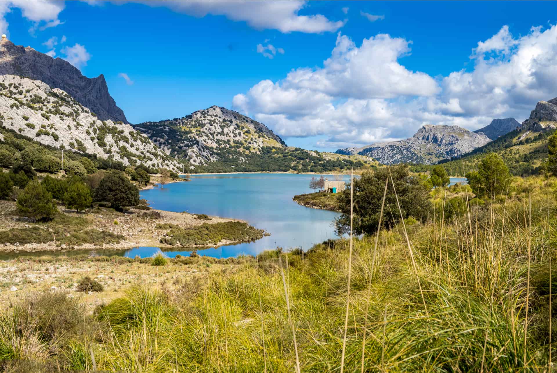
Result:
<instances>
[{"instance_id":1,"label":"pale rocky slope dotted with shrubs, below the dark peak","mask_svg":"<svg viewBox=\"0 0 557 373\"><path fill-rule=\"evenodd\" d=\"M126 166L182 169L131 125L99 120L65 91L39 80L0 76L0 125L45 145L111 158Z\"/></svg>"}]
</instances>

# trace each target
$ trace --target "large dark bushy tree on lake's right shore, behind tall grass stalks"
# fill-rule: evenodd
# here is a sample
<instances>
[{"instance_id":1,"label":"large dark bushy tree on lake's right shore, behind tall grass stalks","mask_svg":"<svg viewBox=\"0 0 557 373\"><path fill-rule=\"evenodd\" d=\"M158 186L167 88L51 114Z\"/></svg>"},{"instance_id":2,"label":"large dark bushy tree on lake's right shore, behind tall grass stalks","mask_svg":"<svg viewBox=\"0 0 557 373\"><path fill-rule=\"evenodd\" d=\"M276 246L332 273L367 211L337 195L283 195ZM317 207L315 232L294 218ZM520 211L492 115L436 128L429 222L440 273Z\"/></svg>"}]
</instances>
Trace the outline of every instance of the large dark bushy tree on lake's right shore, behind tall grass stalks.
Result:
<instances>
[{"instance_id":1,"label":"large dark bushy tree on lake's right shore, behind tall grass stalks","mask_svg":"<svg viewBox=\"0 0 557 373\"><path fill-rule=\"evenodd\" d=\"M390 206L392 214L383 213L383 222L392 227L400 221L397 198L393 190L391 175L400 202L403 219L410 216L424 221L431 212L429 188L420 177L412 176L404 164L389 168L379 168L374 172L364 171L360 178L354 179L354 185L339 193L338 202L343 214L335 220L338 233L350 231L350 188L354 187L354 233L373 234L379 224L379 215L383 201L385 180L389 179L385 209ZM388 210L387 210L388 211Z\"/></svg>"}]
</instances>

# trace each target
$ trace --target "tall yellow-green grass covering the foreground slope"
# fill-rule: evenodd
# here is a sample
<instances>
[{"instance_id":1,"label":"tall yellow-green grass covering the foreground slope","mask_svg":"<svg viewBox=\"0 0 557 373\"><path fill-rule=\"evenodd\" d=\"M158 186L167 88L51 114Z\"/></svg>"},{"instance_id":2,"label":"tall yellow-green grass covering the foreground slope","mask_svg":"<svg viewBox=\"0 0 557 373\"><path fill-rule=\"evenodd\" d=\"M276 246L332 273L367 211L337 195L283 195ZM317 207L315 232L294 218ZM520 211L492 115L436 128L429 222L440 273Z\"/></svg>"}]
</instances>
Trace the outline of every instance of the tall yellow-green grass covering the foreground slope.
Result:
<instances>
[{"instance_id":1,"label":"tall yellow-green grass covering the foreground slope","mask_svg":"<svg viewBox=\"0 0 557 373\"><path fill-rule=\"evenodd\" d=\"M338 240L130 289L97 309L96 333L28 356L107 371L548 371L557 180L517 179L483 204L467 193L435 191L434 219L354 238L352 255Z\"/></svg>"}]
</instances>

